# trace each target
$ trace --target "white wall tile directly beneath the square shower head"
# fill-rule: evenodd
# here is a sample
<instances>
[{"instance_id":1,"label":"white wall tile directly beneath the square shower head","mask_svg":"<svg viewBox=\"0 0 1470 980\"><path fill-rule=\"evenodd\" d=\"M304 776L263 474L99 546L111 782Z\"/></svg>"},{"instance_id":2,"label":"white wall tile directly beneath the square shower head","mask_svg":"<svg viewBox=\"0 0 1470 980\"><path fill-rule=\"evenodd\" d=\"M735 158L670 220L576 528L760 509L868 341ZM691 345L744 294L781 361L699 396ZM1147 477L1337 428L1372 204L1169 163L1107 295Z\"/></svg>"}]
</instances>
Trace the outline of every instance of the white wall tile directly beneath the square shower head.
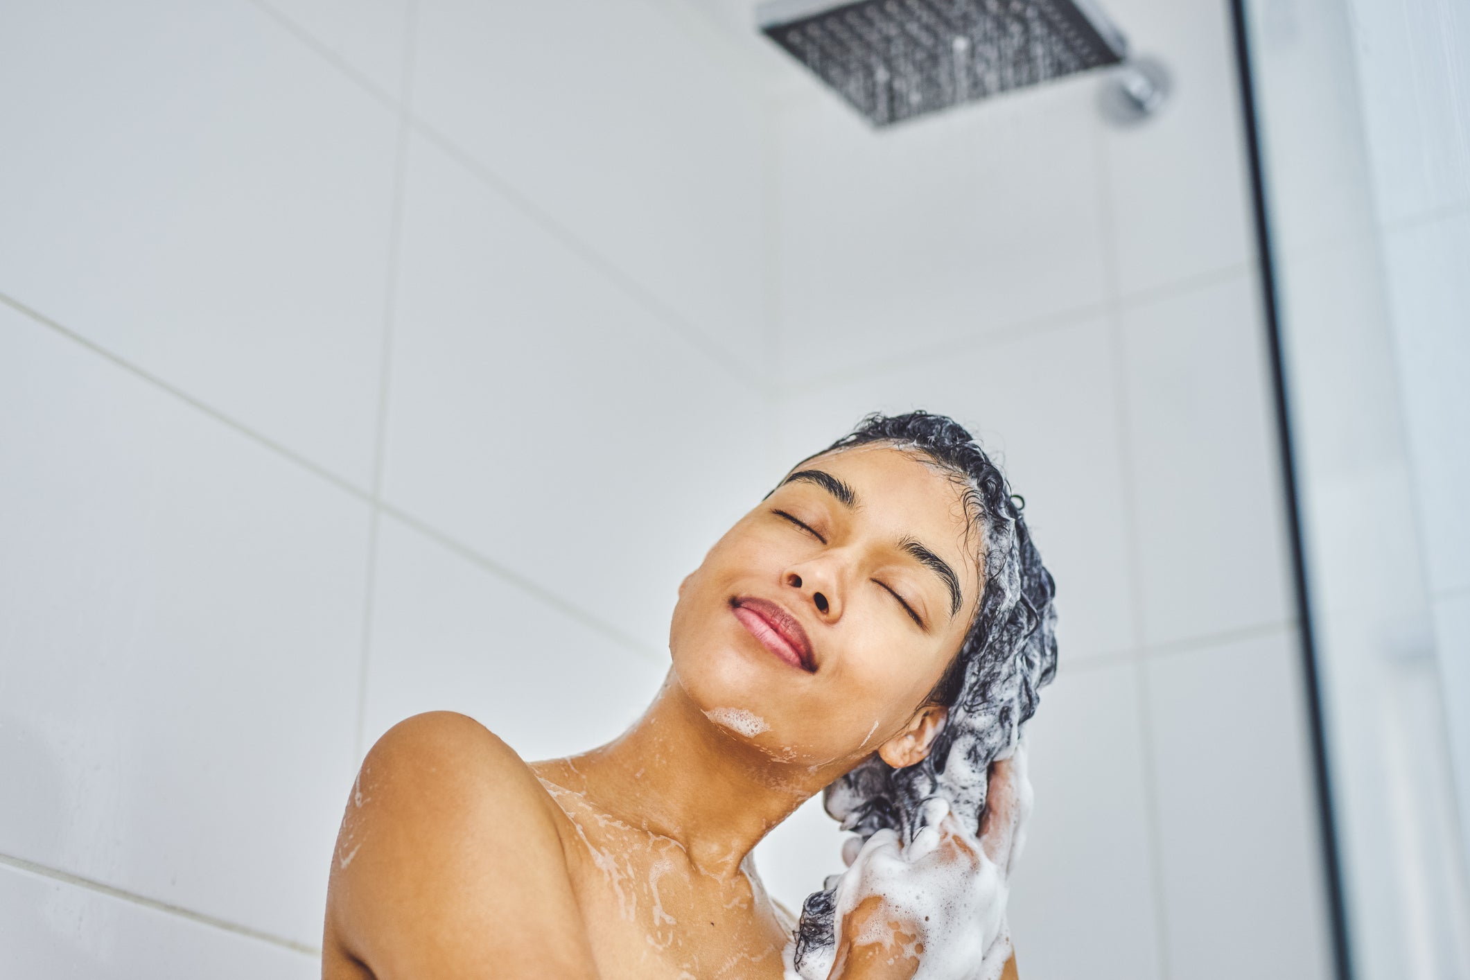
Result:
<instances>
[{"instance_id":1,"label":"white wall tile directly beneath the square shower head","mask_svg":"<svg viewBox=\"0 0 1470 980\"><path fill-rule=\"evenodd\" d=\"M831 94L778 115L778 350L792 382L1101 304L1092 85L873 131Z\"/></svg>"}]
</instances>

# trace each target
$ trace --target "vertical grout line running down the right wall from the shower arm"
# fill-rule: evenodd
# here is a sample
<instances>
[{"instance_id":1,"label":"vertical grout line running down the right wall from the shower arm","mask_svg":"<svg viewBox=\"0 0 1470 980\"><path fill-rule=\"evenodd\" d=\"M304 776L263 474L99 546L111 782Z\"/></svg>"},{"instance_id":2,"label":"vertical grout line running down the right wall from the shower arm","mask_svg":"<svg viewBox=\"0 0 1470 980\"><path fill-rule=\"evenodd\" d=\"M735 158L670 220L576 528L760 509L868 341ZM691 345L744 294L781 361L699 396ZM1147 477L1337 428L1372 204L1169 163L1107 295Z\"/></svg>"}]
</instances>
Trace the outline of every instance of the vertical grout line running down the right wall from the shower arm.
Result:
<instances>
[{"instance_id":1,"label":"vertical grout line running down the right wall from the shower arm","mask_svg":"<svg viewBox=\"0 0 1470 980\"><path fill-rule=\"evenodd\" d=\"M1158 976L1169 977L1169 912L1164 901L1164 855L1160 846L1160 827L1163 817L1158 805L1158 773L1154 768L1154 729L1150 723L1150 688L1147 677L1148 655L1144 652L1144 589L1142 561L1138 548L1138 510L1133 505L1133 486L1136 480L1133 460L1133 439L1129 426L1127 407L1127 356L1123 338L1123 309L1125 298L1120 295L1120 272L1117 257L1113 254L1113 242L1117 239L1117 216L1113 212L1111 181L1113 170L1107 153L1105 123L1094 118L1094 153L1097 159L1097 195L1098 217L1102 225L1102 282L1107 295L1108 316L1108 360L1113 375L1113 425L1117 428L1119 469L1123 472L1123 541L1129 570L1129 621L1133 632L1133 652L1127 660L1133 666L1133 693L1138 696L1138 733L1139 733L1139 765L1144 770L1144 813L1148 827L1145 839L1148 842L1150 884L1152 886L1154 902L1154 956Z\"/></svg>"}]
</instances>

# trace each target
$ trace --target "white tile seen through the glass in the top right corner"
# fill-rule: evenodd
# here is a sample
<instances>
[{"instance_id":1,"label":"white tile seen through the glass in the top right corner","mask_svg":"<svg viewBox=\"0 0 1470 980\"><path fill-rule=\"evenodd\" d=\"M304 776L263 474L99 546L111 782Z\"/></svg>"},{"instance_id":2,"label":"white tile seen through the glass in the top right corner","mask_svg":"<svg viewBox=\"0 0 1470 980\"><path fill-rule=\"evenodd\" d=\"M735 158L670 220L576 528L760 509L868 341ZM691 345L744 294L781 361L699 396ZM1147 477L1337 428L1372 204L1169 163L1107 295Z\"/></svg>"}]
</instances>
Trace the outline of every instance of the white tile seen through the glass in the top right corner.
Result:
<instances>
[{"instance_id":1,"label":"white tile seen through the glass in the top right corner","mask_svg":"<svg viewBox=\"0 0 1470 980\"><path fill-rule=\"evenodd\" d=\"M1470 203L1470 13L1424 0L1348 7L1379 216Z\"/></svg>"}]
</instances>

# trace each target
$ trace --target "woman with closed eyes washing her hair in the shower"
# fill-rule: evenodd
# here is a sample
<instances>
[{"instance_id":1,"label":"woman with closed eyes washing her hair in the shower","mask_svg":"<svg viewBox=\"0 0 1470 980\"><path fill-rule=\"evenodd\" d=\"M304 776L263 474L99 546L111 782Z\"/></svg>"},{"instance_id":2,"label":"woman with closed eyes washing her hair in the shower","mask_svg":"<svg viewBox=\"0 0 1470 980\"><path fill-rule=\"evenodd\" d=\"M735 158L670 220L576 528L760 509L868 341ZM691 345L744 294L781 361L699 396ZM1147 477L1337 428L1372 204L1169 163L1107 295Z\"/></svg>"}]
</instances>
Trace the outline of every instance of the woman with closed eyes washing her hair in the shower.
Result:
<instances>
[{"instance_id":1,"label":"woman with closed eyes washing her hair in the shower","mask_svg":"<svg viewBox=\"0 0 1470 980\"><path fill-rule=\"evenodd\" d=\"M672 669L614 742L526 764L450 713L379 739L323 977L1014 976L1029 785L1020 752L992 760L1054 670L1051 595L964 429L869 417L681 583ZM750 855L823 789L860 837L798 924Z\"/></svg>"}]
</instances>

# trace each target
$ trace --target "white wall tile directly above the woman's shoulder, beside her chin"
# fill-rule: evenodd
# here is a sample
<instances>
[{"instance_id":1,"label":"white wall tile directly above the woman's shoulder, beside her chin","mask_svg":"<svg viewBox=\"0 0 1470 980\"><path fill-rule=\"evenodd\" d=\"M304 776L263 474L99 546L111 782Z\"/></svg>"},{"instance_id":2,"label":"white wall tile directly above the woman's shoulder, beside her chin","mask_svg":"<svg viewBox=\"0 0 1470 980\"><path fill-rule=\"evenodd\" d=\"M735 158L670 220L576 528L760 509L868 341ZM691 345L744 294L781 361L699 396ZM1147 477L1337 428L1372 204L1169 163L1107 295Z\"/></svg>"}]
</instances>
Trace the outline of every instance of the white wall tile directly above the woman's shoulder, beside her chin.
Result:
<instances>
[{"instance_id":1,"label":"white wall tile directly above the woman's shoulder, beside her chin","mask_svg":"<svg viewBox=\"0 0 1470 980\"><path fill-rule=\"evenodd\" d=\"M526 760L616 738L667 671L417 530L385 517L365 745L420 711L459 711Z\"/></svg>"}]
</instances>

